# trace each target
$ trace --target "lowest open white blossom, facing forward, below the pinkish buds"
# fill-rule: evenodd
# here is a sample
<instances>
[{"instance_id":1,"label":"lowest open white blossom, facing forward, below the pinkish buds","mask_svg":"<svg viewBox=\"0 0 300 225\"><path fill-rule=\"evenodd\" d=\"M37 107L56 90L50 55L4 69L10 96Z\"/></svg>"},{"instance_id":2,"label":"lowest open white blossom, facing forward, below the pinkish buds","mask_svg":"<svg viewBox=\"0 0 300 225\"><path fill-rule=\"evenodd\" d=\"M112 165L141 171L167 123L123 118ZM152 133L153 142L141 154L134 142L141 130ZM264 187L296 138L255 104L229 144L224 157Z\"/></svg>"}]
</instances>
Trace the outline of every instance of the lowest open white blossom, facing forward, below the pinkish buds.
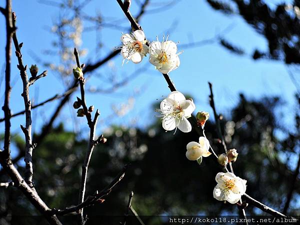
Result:
<instances>
[{"instance_id":1,"label":"lowest open white blossom, facing forward, below the pinkish buds","mask_svg":"<svg viewBox=\"0 0 300 225\"><path fill-rule=\"evenodd\" d=\"M235 176L232 172L219 172L215 176L217 182L213 189L213 197L219 201L235 204L246 191L246 180Z\"/></svg>"}]
</instances>

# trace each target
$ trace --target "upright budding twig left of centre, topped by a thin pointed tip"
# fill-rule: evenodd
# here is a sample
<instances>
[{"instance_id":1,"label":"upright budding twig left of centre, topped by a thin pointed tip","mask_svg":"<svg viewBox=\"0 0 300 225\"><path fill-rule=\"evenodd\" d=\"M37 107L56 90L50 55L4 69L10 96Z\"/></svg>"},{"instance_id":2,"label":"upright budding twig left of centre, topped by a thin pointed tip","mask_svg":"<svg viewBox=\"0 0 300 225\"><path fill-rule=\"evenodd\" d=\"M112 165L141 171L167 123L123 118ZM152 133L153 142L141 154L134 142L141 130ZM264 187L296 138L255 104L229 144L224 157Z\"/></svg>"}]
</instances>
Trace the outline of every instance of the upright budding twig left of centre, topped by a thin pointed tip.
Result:
<instances>
[{"instance_id":1,"label":"upright budding twig left of centre, topped by a thin pointed tip","mask_svg":"<svg viewBox=\"0 0 300 225\"><path fill-rule=\"evenodd\" d=\"M74 48L74 55L76 58L76 63L77 67L80 66L79 62L79 56L78 56L78 51L76 48ZM92 151L96 145L95 141L95 131L96 131L96 123L97 123L97 118L100 115L99 111L96 110L95 115L93 120L91 119L91 111L88 110L85 102L85 91L84 91L84 81L85 79L83 77L78 78L79 80L79 85L80 85L80 93L81 93L81 99L77 97L78 100L81 102L81 106L83 108L87 124L89 126L90 132L89 132L89 141L88 141L88 149L85 154L84 162L82 165L82 172L81 172L81 181L80 181L80 189L79 189L79 196L78 196L78 204L83 203L84 201L84 194L85 194L85 186L86 186L86 178L87 178L87 169L89 165L89 161L91 158ZM80 208L78 210L78 213L80 215L80 224L84 224L86 219L83 218L83 208Z\"/></svg>"}]
</instances>

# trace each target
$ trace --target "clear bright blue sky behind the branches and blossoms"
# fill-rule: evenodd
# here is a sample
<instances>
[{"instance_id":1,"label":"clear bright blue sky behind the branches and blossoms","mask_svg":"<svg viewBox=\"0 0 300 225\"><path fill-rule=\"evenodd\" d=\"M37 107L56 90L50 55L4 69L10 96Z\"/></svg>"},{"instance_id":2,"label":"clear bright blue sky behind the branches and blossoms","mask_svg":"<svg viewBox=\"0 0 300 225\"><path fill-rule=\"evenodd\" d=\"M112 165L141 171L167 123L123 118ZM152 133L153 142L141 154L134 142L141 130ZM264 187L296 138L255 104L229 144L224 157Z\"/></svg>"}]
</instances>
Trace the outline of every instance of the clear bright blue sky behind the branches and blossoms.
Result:
<instances>
[{"instance_id":1,"label":"clear bright blue sky behind the branches and blossoms","mask_svg":"<svg viewBox=\"0 0 300 225\"><path fill-rule=\"evenodd\" d=\"M58 59L56 57L49 57L42 52L45 49L51 49L51 42L55 40L55 36L48 30L53 25L53 22L58 19L58 8L42 4L38 0L27 0L26 4L24 2L23 0L13 0L13 10L17 15L17 36L19 42L24 42L22 47L24 63L28 64L28 66L36 63L30 51L46 61L57 62ZM81 48L87 48L88 54L80 58L81 62L95 61L103 57L105 53L119 44L121 32L126 32L127 27L129 27L129 23L124 18L124 14L116 1L101 0L97 1L100 3L95 2L92 1L82 10L88 14L101 12L105 17L113 17L118 24L124 26L124 30L103 28L100 36L104 47L97 53L95 53L95 33L83 32ZM153 0L153 2L149 5L149 8L159 6L158 0ZM267 1L271 7L279 2L281 1ZM4 6L3 2L1 2L1 6ZM131 12L133 15L137 12L134 0ZM174 22L176 22L175 28L165 33ZM228 113L230 108L237 103L240 92L250 98L259 98L264 95L281 96L286 101L286 104L282 105L280 110L286 113L285 120L287 124L292 124L292 115L295 109L293 96L296 89L287 74L286 67L279 61L254 61L251 59L249 55L253 49L258 48L263 51L267 48L267 43L261 35L257 34L238 15L229 16L216 12L204 0L181 0L172 7L167 8L167 10L158 13L146 13L140 20L140 24L149 40L154 40L156 35L161 37L162 34L169 34L169 39L175 42L180 41L180 44L188 43L192 40L198 41L212 38L230 26L231 28L224 32L223 36L227 40L242 46L246 54L243 56L232 54L216 42L184 49L184 52L179 55L180 66L170 73L177 89L193 96L196 110L211 112L208 104L209 89L207 81L212 82L217 109L224 114ZM4 31L3 16L0 16L0 25L2 31ZM181 49L180 44L178 44L179 50ZM4 46L4 35L0 35L0 48L2 49L0 52L0 71L2 74ZM114 65L119 77L131 74L136 69L147 64L148 69L113 94L87 94L87 103L93 104L95 108L99 108L101 112L100 120L105 120L104 123L99 123L97 128L98 134L109 124L113 123L119 125L134 124L145 128L153 121L155 112L152 108L152 103L162 99L162 95L167 95L169 89L162 75L148 63L147 59L144 58L142 63L138 65L129 62L121 66L121 56L114 57L109 64ZM21 79L15 65L16 58L12 54L11 80L13 89L10 105L13 112L22 110L24 107L20 96ZM39 69L42 71L46 68L39 66ZM109 71L110 69L106 64L97 70L97 74ZM95 78L97 74L94 74L88 80L87 86L96 87L99 85L98 78ZM2 77L1 75L1 103L4 99L4 79ZM31 87L31 97L34 98L35 102L40 102L49 96L63 92L64 88L66 87L61 84L59 78L49 70L46 77L38 80ZM75 96L76 94L71 99L75 100ZM120 118L113 115L109 119L105 119L112 113L112 104L117 105L126 102L130 96L134 97L134 107L124 117ZM46 104L39 108L38 111L33 109L33 119L35 119L33 128L35 131L40 130L41 125L47 121L56 105L57 101ZM87 128L85 118L75 117L76 111L70 105L71 103L64 108L59 119L56 120L56 124L59 121L64 121L68 129L73 129L74 123L76 123L77 128ZM0 112L0 117L3 117L2 111ZM19 124L23 123L24 116L14 117L11 130L13 132L21 132ZM4 123L0 123L0 130L4 130Z\"/></svg>"}]
</instances>

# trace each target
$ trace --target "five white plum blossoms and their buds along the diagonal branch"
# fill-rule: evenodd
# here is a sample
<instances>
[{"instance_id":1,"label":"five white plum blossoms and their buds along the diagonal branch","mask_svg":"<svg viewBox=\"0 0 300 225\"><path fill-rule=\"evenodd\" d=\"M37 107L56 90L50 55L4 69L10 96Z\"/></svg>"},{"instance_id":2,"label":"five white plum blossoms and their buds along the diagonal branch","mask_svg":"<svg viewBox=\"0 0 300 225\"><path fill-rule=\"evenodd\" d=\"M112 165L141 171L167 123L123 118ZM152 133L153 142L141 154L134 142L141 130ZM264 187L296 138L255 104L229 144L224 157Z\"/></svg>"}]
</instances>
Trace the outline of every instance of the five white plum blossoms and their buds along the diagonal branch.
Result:
<instances>
[{"instance_id":1,"label":"five white plum blossoms and their buds along the diagonal branch","mask_svg":"<svg viewBox=\"0 0 300 225\"><path fill-rule=\"evenodd\" d=\"M168 73L176 69L180 60L177 53L177 45L171 40L162 40L162 42L146 40L142 30L135 30L133 33L125 33L121 35L122 45L119 47L121 55L123 56L123 63L125 60L132 61L133 63L139 63L143 57L149 54L149 62L155 66L155 68L161 73ZM74 71L74 74L80 77L80 71ZM78 73L78 74L77 74ZM156 111L160 112L162 119L162 127L165 131L174 130L174 134L177 129L182 132L190 132L191 124L188 118L191 117L192 112L195 110L195 104L191 98L186 99L185 96L179 91L172 91L160 102L160 108ZM205 122L209 118L209 113L205 111L199 111L196 114L196 124L202 129ZM188 160L195 160L200 164L202 157L208 157L211 152L216 156L220 165L226 168L228 162L234 162L238 153L236 149L230 149L226 153L219 154L214 153L208 139L205 137L204 129L203 135L199 140L190 141L186 145L185 156ZM228 170L227 170L228 171ZM232 172L219 172L215 176L217 182L213 189L213 197L220 201L228 201L231 204L235 204L241 198L241 195L246 190L246 180L235 176Z\"/></svg>"}]
</instances>

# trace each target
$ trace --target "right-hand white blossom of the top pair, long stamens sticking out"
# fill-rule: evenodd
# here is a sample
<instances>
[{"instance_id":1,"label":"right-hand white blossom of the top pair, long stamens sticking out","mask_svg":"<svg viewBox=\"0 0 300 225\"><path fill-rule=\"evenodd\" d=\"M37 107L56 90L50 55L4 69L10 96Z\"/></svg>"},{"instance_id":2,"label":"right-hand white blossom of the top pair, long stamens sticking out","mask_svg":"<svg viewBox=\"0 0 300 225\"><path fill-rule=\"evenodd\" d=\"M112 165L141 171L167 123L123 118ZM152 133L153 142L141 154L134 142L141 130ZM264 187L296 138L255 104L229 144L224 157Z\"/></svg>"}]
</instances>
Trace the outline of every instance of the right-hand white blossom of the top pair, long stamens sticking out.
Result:
<instances>
[{"instance_id":1,"label":"right-hand white blossom of the top pair, long stamens sticking out","mask_svg":"<svg viewBox=\"0 0 300 225\"><path fill-rule=\"evenodd\" d=\"M153 41L149 46L149 62L156 66L161 73L168 73L174 69L176 69L180 60L178 57L179 53L176 53L177 45L171 41L166 40L159 42Z\"/></svg>"}]
</instances>

